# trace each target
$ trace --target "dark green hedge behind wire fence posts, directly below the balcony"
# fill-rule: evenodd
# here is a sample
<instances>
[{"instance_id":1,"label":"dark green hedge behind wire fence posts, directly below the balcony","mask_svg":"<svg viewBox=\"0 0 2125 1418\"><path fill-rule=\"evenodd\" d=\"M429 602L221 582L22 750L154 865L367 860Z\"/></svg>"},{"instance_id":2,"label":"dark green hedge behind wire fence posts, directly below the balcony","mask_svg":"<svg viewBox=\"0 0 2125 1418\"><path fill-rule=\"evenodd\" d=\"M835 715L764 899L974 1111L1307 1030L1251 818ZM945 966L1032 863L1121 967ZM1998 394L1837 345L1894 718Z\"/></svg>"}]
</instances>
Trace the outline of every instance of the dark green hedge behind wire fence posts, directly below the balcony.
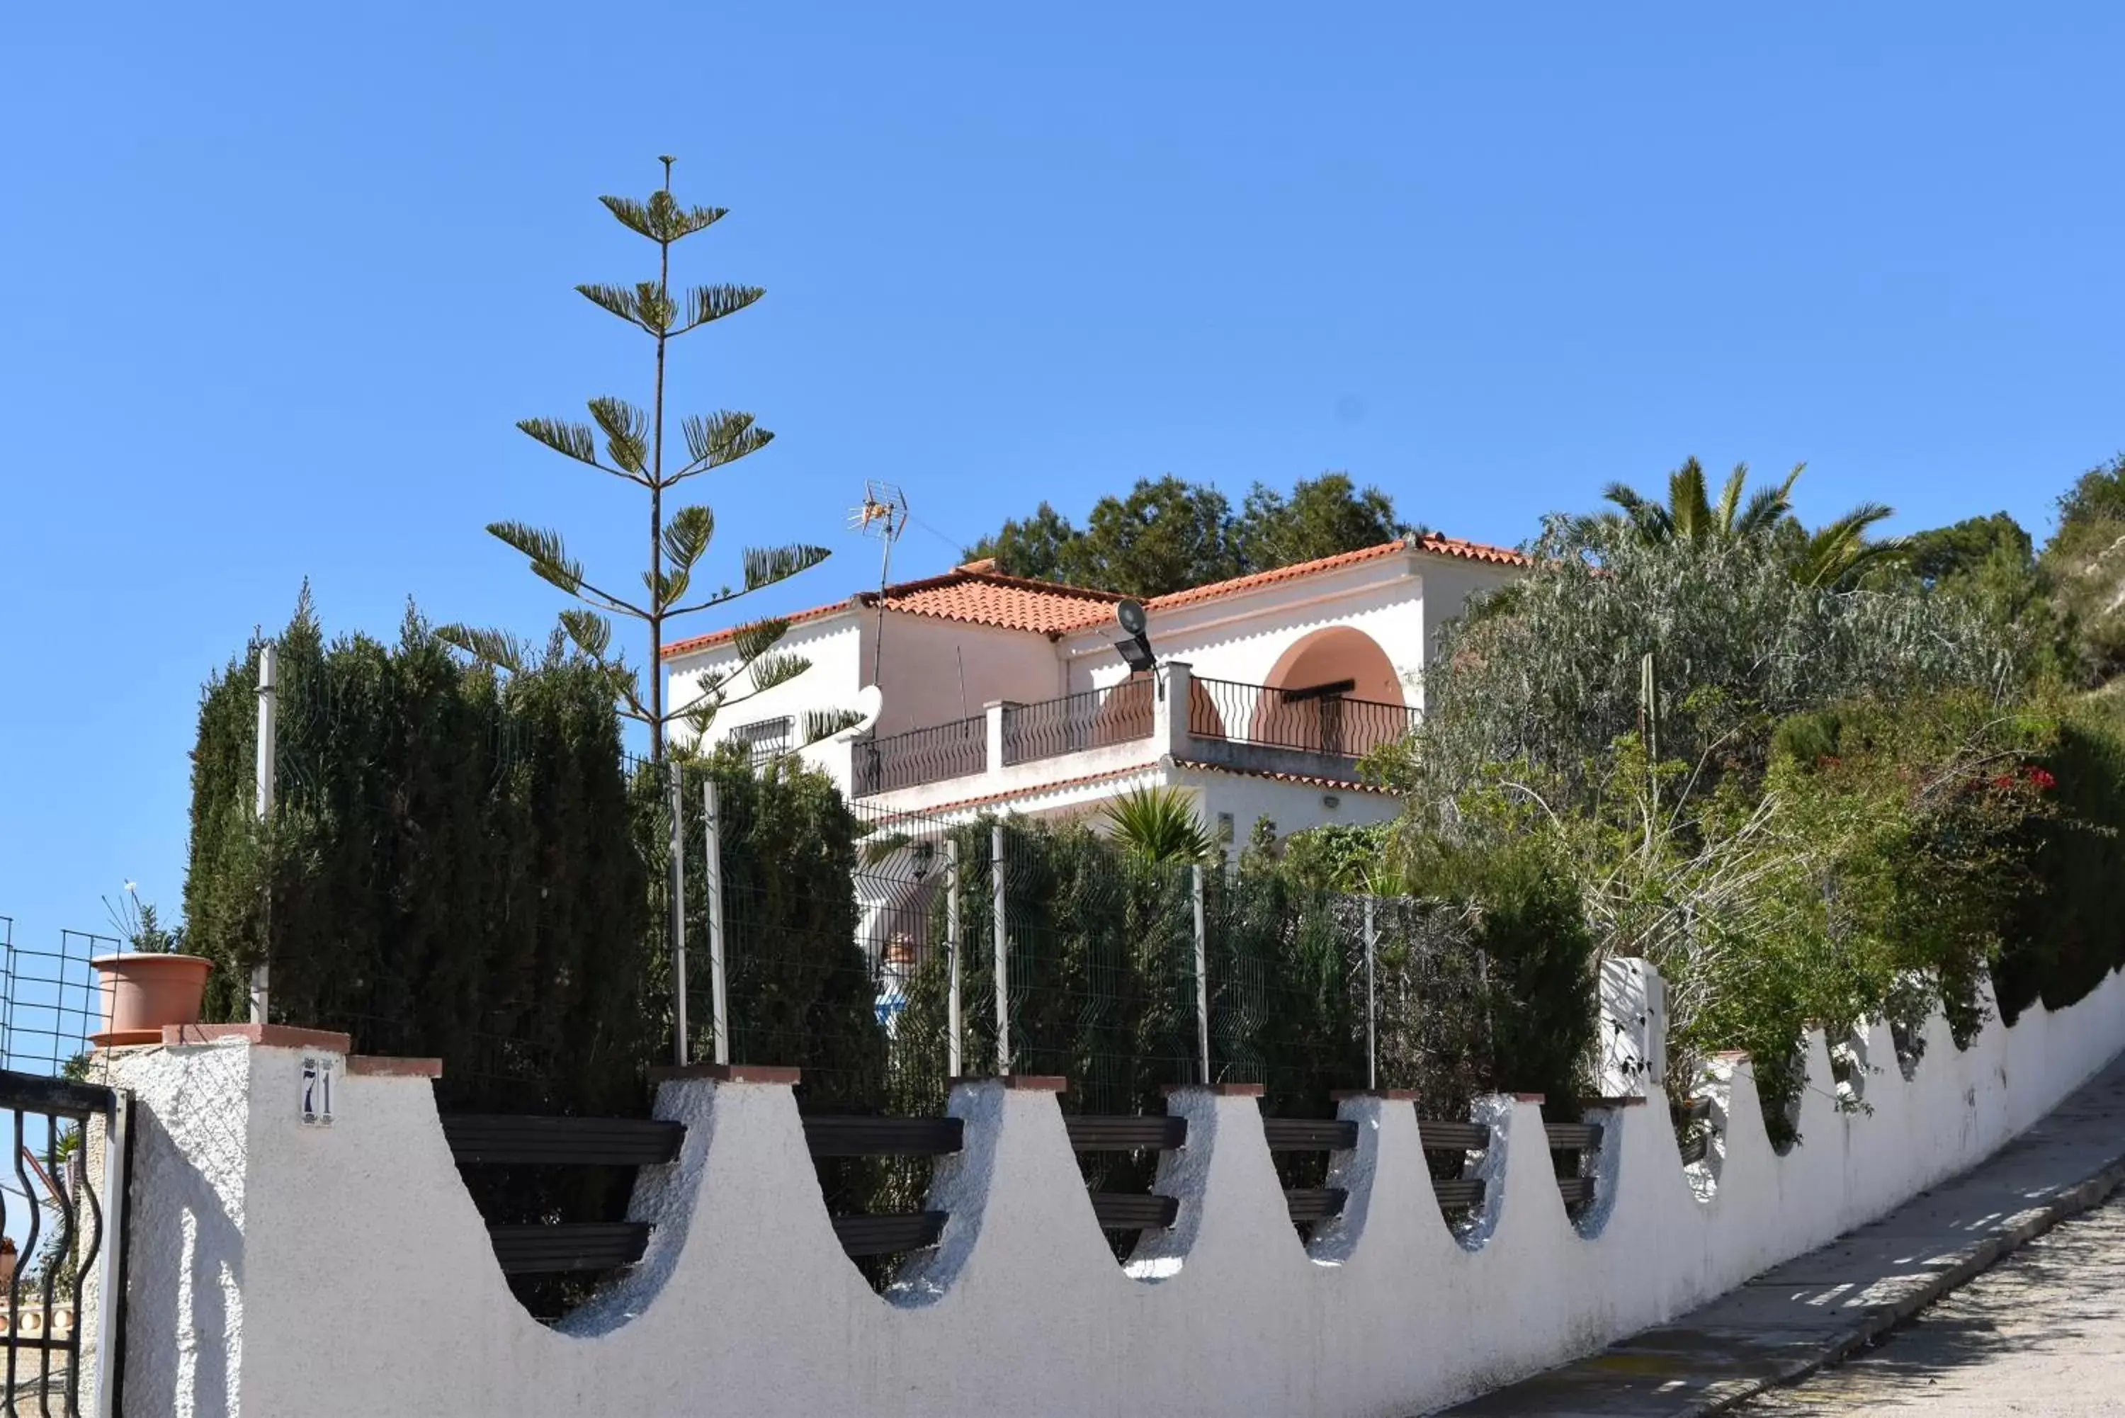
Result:
<instances>
[{"instance_id":1,"label":"dark green hedge behind wire fence posts, directly below the balcony","mask_svg":"<svg viewBox=\"0 0 2125 1418\"><path fill-rule=\"evenodd\" d=\"M965 1067L984 1071L994 1067L992 827L954 833ZM1065 1074L1071 1110L1160 1112L1167 1084L1198 1076L1192 867L1082 825L1012 823L1005 833L1009 1065ZM1377 846L1379 829L1279 844L1264 823L1237 870L1203 870L1211 1078L1264 1084L1275 1114L1322 1116L1334 1088L1366 1084L1364 904L1328 884L1330 863L1356 859L1364 842ZM1577 897L1532 848L1434 865L1434 899L1375 904L1381 1084L1422 1088L1447 1116L1500 1086L1549 1091L1568 1108L1594 1027ZM905 1063L944 1057L946 918L939 893L935 948L895 1023L897 1110L941 1103L931 1093L941 1069L916 1076ZM1143 1180L1122 1159L1088 1167L1101 1182Z\"/></svg>"}]
</instances>

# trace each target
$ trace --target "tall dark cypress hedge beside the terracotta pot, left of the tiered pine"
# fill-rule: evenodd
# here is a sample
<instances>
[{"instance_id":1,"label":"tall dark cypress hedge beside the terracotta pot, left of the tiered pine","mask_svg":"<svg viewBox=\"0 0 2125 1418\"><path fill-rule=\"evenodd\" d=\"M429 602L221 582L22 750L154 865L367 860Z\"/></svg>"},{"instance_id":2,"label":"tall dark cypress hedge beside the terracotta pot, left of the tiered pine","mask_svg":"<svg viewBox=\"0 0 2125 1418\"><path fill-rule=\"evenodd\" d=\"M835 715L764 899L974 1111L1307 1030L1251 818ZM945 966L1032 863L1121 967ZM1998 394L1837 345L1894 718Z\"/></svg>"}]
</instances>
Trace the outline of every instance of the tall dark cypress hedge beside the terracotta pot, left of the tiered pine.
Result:
<instances>
[{"instance_id":1,"label":"tall dark cypress hedge beside the terracotta pot, left of the tiered pine","mask_svg":"<svg viewBox=\"0 0 2125 1418\"><path fill-rule=\"evenodd\" d=\"M193 750L187 944L208 1018L274 1018L444 1059L442 1097L631 1112L648 882L595 665L510 680L408 612L395 646L325 644L308 597L278 638L276 812L253 818L255 646L208 682Z\"/></svg>"}]
</instances>

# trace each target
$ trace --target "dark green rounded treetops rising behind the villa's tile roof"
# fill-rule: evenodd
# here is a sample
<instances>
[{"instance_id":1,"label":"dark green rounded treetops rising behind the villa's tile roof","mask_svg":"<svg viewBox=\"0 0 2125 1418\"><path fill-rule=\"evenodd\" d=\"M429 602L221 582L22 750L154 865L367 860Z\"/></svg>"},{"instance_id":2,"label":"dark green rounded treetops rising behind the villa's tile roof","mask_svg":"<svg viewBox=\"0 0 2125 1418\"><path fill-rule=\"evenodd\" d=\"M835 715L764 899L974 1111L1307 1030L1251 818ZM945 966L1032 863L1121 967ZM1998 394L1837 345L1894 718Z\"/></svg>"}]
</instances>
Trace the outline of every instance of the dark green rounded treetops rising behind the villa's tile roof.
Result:
<instances>
[{"instance_id":1,"label":"dark green rounded treetops rising behind the villa's tile roof","mask_svg":"<svg viewBox=\"0 0 2125 1418\"><path fill-rule=\"evenodd\" d=\"M1290 497L1256 483L1239 512L1213 487L1139 478L1126 497L1101 497L1084 529L1041 504L967 548L1009 576L1167 595L1247 572L1392 542L1402 529L1379 489L1347 474L1300 478Z\"/></svg>"}]
</instances>

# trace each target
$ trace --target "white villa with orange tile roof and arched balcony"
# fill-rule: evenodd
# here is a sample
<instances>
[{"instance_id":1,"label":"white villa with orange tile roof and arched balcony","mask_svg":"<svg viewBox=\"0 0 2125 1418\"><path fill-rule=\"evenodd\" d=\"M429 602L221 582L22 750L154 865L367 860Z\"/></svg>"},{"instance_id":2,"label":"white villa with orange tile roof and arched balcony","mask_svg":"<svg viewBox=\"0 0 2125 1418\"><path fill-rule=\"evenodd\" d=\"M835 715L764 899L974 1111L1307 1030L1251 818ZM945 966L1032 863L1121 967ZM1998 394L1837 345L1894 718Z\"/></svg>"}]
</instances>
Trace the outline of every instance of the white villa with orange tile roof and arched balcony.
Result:
<instances>
[{"instance_id":1,"label":"white villa with orange tile roof and arched balcony","mask_svg":"<svg viewBox=\"0 0 2125 1418\"><path fill-rule=\"evenodd\" d=\"M1439 627L1522 565L1445 536L1366 546L1154 597L1143 653L1124 646L1122 595L975 561L788 617L778 651L812 670L727 708L716 733L774 753L808 712L867 704L869 723L801 753L880 812L1073 816L1171 784L1224 840L1258 816L1375 823L1394 804L1358 757L1422 712ZM665 648L674 704L735 665L735 634Z\"/></svg>"}]
</instances>

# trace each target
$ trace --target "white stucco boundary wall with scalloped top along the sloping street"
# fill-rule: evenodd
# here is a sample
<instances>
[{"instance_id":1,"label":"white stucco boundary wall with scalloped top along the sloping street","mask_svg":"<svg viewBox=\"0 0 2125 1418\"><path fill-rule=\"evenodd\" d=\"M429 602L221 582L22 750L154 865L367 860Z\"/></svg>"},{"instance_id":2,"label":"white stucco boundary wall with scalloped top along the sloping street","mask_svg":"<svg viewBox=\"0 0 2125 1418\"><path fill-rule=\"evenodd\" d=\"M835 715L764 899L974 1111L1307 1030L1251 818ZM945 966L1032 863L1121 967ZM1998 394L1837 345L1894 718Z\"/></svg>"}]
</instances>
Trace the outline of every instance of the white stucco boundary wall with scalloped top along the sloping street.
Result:
<instances>
[{"instance_id":1,"label":"white stucco boundary wall with scalloped top along the sloping street","mask_svg":"<svg viewBox=\"0 0 2125 1418\"><path fill-rule=\"evenodd\" d=\"M140 1099L125 1401L144 1414L1377 1414L1594 1350L1881 1216L2048 1112L2125 1042L2110 976L1968 1052L1934 1020L1915 1078L1859 1040L1872 1114L1840 1114L1808 1040L1802 1144L1779 1157L1747 1061L1704 1086L1685 1169L1660 1095L1615 1108L1575 1225L1541 1116L1488 1099L1473 1231L1441 1220L1407 1099L1343 1103L1341 1220L1300 1246L1256 1103L1175 1095L1179 1225L1124 1273L1050 1093L963 1084L944 1242L890 1297L842 1254L790 1091L663 1084L678 1163L644 1171L640 1267L561 1331L504 1288L421 1078L342 1080L298 1120L302 1054L240 1040L117 1059Z\"/></svg>"}]
</instances>

